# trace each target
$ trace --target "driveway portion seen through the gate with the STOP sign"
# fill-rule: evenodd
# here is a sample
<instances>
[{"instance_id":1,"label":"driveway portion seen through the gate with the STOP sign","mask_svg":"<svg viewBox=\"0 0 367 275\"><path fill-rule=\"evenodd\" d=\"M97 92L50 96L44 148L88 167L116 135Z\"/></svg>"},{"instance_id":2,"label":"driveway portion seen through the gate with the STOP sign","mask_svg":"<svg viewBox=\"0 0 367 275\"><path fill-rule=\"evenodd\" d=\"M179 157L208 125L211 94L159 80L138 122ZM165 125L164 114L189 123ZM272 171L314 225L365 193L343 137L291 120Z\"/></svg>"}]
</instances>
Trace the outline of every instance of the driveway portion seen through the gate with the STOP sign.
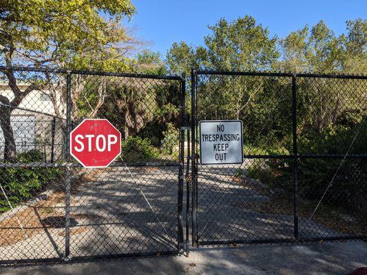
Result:
<instances>
[{"instance_id":1,"label":"driveway portion seen through the gate with the STOP sign","mask_svg":"<svg viewBox=\"0 0 367 275\"><path fill-rule=\"evenodd\" d=\"M177 167L93 170L72 184L71 256L176 251ZM0 223L0 260L62 257L65 193L55 192ZM3 239L3 240L1 240Z\"/></svg>"}]
</instances>

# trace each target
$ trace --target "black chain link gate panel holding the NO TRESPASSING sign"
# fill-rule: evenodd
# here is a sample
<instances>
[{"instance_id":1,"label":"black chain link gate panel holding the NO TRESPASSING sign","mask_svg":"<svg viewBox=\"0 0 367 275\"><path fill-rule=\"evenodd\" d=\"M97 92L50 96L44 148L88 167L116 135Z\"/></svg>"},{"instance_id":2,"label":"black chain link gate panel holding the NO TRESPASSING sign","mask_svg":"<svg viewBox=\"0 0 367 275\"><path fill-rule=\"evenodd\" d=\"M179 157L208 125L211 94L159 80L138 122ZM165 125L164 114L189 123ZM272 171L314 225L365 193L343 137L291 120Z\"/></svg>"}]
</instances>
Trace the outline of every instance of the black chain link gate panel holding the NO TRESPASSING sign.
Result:
<instances>
[{"instance_id":1,"label":"black chain link gate panel holding the NO TRESPASSING sign","mask_svg":"<svg viewBox=\"0 0 367 275\"><path fill-rule=\"evenodd\" d=\"M191 72L192 244L366 239L366 76ZM198 163L200 120L242 120L244 163Z\"/></svg>"}]
</instances>

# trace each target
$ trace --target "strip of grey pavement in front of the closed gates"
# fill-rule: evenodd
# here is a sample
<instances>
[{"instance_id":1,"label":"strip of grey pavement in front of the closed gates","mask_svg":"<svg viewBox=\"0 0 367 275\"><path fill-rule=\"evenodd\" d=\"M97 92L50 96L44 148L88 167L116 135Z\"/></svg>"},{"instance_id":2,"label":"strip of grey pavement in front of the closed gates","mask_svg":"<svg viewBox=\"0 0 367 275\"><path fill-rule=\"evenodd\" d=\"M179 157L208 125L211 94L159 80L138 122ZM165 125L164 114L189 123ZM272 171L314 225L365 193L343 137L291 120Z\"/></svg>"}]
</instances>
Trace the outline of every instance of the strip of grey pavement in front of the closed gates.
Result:
<instances>
[{"instance_id":1,"label":"strip of grey pavement in front of the closed gates","mask_svg":"<svg viewBox=\"0 0 367 275\"><path fill-rule=\"evenodd\" d=\"M1 275L76 274L328 274L367 266L367 243L311 243L207 248L185 256L121 259L68 265L3 268Z\"/></svg>"}]
</instances>

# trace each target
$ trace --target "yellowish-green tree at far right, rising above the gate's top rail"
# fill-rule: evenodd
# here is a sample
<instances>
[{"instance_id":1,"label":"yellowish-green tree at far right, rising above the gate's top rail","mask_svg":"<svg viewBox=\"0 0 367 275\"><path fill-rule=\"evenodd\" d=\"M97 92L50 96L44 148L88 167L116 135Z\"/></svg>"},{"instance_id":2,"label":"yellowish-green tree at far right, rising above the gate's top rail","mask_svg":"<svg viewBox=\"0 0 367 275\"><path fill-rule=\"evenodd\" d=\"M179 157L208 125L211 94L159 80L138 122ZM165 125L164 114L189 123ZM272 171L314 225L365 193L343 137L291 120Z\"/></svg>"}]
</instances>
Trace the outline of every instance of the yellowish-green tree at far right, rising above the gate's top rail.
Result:
<instances>
[{"instance_id":1,"label":"yellowish-green tree at far right, rising above the gate's top rail","mask_svg":"<svg viewBox=\"0 0 367 275\"><path fill-rule=\"evenodd\" d=\"M280 69L290 72L316 73L366 73L367 21L347 21L347 34L335 36L324 21L319 21L311 31L308 26L291 32L280 40L282 60ZM364 93L358 80L330 80L299 78L298 102L300 131L306 126L317 133L329 129L349 113L355 121L363 113L359 99ZM354 87L341 93L343 87ZM330 130L330 129L329 129Z\"/></svg>"}]
</instances>

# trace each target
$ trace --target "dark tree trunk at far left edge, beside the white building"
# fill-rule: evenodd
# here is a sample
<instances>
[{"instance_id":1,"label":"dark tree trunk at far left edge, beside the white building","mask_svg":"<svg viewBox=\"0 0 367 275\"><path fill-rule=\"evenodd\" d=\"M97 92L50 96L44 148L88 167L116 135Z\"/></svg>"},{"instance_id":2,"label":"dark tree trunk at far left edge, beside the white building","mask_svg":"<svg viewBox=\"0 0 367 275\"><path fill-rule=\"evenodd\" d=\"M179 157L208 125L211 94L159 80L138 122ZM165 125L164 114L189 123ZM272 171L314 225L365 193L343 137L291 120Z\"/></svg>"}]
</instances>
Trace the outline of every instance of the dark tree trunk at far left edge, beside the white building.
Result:
<instances>
[{"instance_id":1,"label":"dark tree trunk at far left edge, beside the white building","mask_svg":"<svg viewBox=\"0 0 367 275\"><path fill-rule=\"evenodd\" d=\"M0 96L0 102L8 106L10 105L8 98L4 96ZM5 140L4 160L14 162L17 155L17 147L15 146L12 125L10 124L11 109L8 106L0 105L0 126Z\"/></svg>"}]
</instances>

